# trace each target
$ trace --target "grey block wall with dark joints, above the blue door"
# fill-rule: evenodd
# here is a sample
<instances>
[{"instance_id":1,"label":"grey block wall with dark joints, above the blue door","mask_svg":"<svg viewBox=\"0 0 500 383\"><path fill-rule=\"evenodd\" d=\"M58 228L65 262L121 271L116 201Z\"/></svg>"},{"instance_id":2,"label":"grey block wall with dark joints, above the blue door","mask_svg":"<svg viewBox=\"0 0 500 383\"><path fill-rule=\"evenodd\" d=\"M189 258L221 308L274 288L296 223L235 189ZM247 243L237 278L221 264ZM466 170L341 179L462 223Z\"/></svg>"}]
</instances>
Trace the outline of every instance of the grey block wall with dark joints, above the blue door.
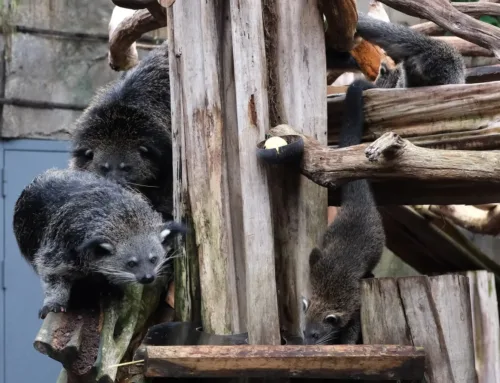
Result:
<instances>
[{"instance_id":1,"label":"grey block wall with dark joints, above the blue door","mask_svg":"<svg viewBox=\"0 0 500 383\"><path fill-rule=\"evenodd\" d=\"M107 63L112 9L111 0L11 0L0 39L1 97L86 105L96 89L119 76ZM9 33L12 26L29 30ZM50 31L93 36L61 37ZM3 138L45 139L67 138L81 113L11 105L0 106L0 112Z\"/></svg>"}]
</instances>

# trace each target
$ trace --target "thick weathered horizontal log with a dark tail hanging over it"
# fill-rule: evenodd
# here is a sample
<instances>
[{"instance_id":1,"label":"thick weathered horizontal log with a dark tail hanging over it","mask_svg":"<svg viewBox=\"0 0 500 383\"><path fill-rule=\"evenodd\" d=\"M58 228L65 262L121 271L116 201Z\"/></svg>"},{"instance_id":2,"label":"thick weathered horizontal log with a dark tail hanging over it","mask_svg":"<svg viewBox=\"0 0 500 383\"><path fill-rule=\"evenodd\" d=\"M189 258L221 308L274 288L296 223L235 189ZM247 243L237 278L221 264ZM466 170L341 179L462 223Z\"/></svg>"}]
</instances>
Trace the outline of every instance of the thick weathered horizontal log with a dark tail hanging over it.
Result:
<instances>
[{"instance_id":1,"label":"thick weathered horizontal log with a dark tail hanging over it","mask_svg":"<svg viewBox=\"0 0 500 383\"><path fill-rule=\"evenodd\" d=\"M500 147L500 136L496 132L500 128L497 122L500 81L413 89L371 89L364 95L365 141L394 131L421 146L446 149ZM329 144L338 142L343 108L344 97L328 97ZM477 142L472 140L474 137L477 137Z\"/></svg>"}]
</instances>

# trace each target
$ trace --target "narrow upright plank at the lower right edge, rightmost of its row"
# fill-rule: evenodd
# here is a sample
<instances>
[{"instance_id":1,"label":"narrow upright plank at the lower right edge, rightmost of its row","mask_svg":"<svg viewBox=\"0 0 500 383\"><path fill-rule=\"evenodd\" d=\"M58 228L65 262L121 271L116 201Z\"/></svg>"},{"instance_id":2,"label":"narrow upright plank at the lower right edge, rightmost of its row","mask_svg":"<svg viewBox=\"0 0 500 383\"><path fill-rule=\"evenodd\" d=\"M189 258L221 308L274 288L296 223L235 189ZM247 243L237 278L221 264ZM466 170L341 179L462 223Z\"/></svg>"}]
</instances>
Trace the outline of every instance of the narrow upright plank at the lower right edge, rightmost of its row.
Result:
<instances>
[{"instance_id":1,"label":"narrow upright plank at the lower right edge, rightmost of its row","mask_svg":"<svg viewBox=\"0 0 500 383\"><path fill-rule=\"evenodd\" d=\"M469 271L476 371L479 383L500 380L500 326L495 277L487 271Z\"/></svg>"}]
</instances>

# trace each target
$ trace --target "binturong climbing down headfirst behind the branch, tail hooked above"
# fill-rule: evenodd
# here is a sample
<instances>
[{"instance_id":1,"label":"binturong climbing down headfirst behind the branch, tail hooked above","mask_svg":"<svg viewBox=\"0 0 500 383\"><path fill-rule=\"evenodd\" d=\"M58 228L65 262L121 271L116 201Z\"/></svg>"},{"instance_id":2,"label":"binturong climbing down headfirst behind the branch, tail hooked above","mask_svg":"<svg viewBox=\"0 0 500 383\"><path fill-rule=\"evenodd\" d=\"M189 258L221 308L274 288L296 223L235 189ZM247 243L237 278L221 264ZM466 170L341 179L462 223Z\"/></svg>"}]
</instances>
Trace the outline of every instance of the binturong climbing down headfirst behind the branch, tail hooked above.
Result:
<instances>
[{"instance_id":1,"label":"binturong climbing down headfirst behind the branch, tail hooked above","mask_svg":"<svg viewBox=\"0 0 500 383\"><path fill-rule=\"evenodd\" d=\"M365 80L347 89L340 147L363 134ZM360 280L370 276L385 243L382 220L366 180L342 185L340 211L309 255L311 297L303 298L306 344L354 344L360 335Z\"/></svg>"}]
</instances>

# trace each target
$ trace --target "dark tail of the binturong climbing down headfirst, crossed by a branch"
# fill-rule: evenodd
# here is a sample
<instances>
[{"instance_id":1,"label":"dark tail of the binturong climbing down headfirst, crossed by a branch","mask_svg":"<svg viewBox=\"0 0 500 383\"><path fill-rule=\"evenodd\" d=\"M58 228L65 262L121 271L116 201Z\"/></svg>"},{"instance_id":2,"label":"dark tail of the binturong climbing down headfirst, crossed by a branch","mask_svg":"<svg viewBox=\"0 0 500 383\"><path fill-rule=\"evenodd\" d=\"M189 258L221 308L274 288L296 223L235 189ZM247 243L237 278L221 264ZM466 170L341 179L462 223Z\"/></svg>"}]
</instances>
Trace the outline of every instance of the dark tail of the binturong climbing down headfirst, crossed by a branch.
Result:
<instances>
[{"instance_id":1,"label":"dark tail of the binturong climbing down headfirst, crossed by a branch","mask_svg":"<svg viewBox=\"0 0 500 383\"><path fill-rule=\"evenodd\" d=\"M361 143L364 129L363 91L374 87L366 80L356 80L347 89L339 147L344 148ZM366 213L367 209L376 210L376 204L366 180L351 181L342 186L342 206L345 205L351 205L361 214ZM376 214L378 215L378 212Z\"/></svg>"}]
</instances>

